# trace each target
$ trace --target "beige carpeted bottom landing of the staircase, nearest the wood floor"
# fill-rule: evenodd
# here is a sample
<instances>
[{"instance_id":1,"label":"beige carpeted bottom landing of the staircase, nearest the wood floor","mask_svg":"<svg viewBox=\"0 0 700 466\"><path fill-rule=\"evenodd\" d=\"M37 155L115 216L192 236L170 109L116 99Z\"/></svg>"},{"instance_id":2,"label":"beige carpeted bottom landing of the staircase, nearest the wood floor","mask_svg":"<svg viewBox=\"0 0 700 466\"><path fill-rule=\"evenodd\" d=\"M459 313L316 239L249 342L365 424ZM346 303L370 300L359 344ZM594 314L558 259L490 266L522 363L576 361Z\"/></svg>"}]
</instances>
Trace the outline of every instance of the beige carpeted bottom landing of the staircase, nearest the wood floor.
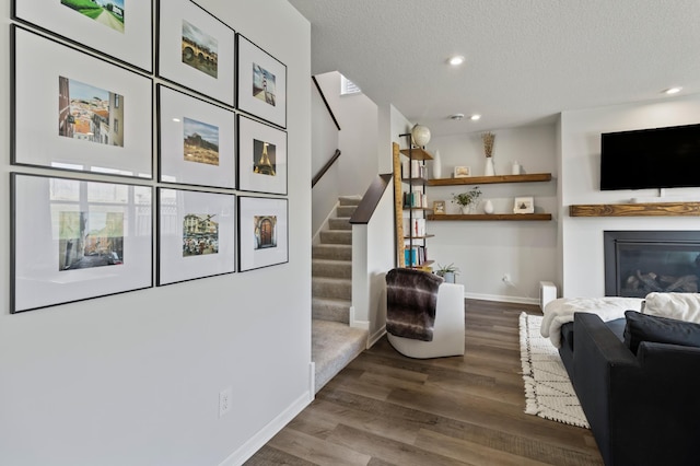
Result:
<instances>
[{"instance_id":1,"label":"beige carpeted bottom landing of the staircase, nearest the wood floor","mask_svg":"<svg viewBox=\"0 0 700 466\"><path fill-rule=\"evenodd\" d=\"M316 393L358 357L368 343L368 330L328 321L312 321L311 358Z\"/></svg>"}]
</instances>

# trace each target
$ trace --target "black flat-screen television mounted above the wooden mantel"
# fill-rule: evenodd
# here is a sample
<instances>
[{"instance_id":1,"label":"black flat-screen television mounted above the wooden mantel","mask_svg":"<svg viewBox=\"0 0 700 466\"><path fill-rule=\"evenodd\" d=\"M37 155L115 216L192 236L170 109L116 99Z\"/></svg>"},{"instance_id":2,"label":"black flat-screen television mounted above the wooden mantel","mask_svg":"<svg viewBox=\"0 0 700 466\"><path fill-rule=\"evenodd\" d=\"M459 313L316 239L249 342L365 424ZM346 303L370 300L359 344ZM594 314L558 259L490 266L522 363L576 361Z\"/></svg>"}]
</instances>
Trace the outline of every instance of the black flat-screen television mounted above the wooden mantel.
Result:
<instances>
[{"instance_id":1,"label":"black flat-screen television mounted above the wooden mantel","mask_svg":"<svg viewBox=\"0 0 700 466\"><path fill-rule=\"evenodd\" d=\"M700 186L700 124L600 135L600 189Z\"/></svg>"}]
</instances>

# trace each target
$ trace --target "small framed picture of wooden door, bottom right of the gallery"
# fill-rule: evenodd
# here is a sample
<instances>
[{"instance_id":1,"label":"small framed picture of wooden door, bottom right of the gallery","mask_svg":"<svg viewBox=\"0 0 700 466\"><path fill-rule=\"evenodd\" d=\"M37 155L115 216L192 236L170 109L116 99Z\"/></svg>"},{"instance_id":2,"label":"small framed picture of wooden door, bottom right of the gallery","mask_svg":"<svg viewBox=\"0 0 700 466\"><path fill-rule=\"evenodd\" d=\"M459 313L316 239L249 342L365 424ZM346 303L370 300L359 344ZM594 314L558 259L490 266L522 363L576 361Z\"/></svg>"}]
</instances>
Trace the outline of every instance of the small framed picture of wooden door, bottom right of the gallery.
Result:
<instances>
[{"instance_id":1,"label":"small framed picture of wooden door, bottom right of the gallery","mask_svg":"<svg viewBox=\"0 0 700 466\"><path fill-rule=\"evenodd\" d=\"M238 270L288 261L287 199L238 197Z\"/></svg>"}]
</instances>

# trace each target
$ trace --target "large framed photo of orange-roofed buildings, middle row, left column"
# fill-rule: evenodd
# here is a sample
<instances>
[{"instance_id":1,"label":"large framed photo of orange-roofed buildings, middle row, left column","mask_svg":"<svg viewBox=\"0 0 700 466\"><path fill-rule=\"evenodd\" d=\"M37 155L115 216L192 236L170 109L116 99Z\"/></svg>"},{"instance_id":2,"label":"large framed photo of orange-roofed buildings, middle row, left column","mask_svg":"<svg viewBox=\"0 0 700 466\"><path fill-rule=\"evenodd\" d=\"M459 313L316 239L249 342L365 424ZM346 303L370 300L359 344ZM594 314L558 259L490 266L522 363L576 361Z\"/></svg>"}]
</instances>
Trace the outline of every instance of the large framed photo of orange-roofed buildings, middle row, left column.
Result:
<instances>
[{"instance_id":1,"label":"large framed photo of orange-roofed buildings, middle row, left column","mask_svg":"<svg viewBox=\"0 0 700 466\"><path fill-rule=\"evenodd\" d=\"M12 32L12 163L152 178L152 80Z\"/></svg>"}]
</instances>

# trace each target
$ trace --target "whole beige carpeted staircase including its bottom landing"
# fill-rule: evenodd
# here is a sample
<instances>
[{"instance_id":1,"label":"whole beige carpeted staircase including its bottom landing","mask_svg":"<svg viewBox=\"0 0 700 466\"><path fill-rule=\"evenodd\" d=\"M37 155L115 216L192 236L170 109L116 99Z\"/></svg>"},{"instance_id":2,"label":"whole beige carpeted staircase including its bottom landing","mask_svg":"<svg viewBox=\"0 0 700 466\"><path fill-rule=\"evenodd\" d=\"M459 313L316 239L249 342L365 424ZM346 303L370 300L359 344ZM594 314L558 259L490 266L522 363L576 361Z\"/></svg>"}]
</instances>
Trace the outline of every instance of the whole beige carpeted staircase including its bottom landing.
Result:
<instances>
[{"instance_id":1,"label":"whole beige carpeted staircase including its bottom landing","mask_svg":"<svg viewBox=\"0 0 700 466\"><path fill-rule=\"evenodd\" d=\"M350 217L359 196L338 199L335 218L319 234L312 249L312 361L316 365L315 388L328 381L360 354L368 343L368 330L350 327L352 304L352 226Z\"/></svg>"}]
</instances>

